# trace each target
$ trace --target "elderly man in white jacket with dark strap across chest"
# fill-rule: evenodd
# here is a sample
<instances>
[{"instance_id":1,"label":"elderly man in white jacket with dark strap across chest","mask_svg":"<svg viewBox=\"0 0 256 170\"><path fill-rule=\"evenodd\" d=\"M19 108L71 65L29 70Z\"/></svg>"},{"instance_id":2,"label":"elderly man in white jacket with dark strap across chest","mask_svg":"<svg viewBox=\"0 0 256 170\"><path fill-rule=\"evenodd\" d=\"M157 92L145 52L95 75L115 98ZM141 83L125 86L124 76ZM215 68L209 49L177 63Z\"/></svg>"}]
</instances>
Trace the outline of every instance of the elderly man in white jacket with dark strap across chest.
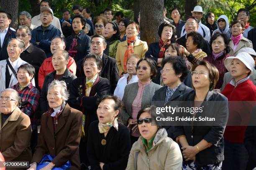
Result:
<instances>
[{"instance_id":1,"label":"elderly man in white jacket with dark strap across chest","mask_svg":"<svg viewBox=\"0 0 256 170\"><path fill-rule=\"evenodd\" d=\"M22 40L11 39L8 42L7 52L9 58L0 61L0 91L17 84L17 70L20 65L26 64L20 58L21 52L24 51L25 43ZM35 86L35 80L32 80Z\"/></svg>"}]
</instances>

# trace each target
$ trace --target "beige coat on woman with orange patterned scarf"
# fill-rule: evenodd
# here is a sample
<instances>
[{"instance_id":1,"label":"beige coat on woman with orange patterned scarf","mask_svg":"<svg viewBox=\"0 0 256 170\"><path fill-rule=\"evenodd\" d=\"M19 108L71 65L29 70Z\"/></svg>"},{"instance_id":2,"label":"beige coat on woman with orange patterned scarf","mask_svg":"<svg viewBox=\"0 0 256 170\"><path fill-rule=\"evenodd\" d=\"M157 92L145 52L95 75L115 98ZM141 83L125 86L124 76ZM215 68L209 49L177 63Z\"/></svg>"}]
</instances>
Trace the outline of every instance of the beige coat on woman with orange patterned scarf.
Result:
<instances>
[{"instance_id":1,"label":"beige coat on woman with orange patterned scarf","mask_svg":"<svg viewBox=\"0 0 256 170\"><path fill-rule=\"evenodd\" d=\"M118 43L115 59L118 65L119 75L121 75L122 73L126 73L123 60L124 60L124 55L127 47L128 47L127 40ZM145 57L145 54L148 51L147 42L137 39L133 44L133 50L134 50L134 54L138 55L138 57L140 58Z\"/></svg>"}]
</instances>

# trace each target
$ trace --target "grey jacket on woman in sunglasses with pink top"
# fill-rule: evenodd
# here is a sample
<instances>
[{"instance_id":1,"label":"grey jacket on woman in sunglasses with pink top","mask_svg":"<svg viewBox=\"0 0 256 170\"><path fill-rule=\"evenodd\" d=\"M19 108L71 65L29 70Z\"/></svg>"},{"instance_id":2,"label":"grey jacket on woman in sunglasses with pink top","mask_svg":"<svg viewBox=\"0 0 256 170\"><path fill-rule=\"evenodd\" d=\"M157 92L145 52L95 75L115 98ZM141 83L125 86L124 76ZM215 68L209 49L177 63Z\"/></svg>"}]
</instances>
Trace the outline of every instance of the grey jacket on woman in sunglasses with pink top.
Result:
<instances>
[{"instance_id":1,"label":"grey jacket on woman in sunglasses with pink top","mask_svg":"<svg viewBox=\"0 0 256 170\"><path fill-rule=\"evenodd\" d=\"M150 82L146 85L141 99L141 108L146 106L150 106L152 97L154 96L156 90L160 89L162 86L158 85L154 82ZM138 82L131 83L126 85L125 92L123 95L123 104L125 107L122 108L120 117L125 125L127 125L127 121L132 117L132 104L138 92Z\"/></svg>"}]
</instances>

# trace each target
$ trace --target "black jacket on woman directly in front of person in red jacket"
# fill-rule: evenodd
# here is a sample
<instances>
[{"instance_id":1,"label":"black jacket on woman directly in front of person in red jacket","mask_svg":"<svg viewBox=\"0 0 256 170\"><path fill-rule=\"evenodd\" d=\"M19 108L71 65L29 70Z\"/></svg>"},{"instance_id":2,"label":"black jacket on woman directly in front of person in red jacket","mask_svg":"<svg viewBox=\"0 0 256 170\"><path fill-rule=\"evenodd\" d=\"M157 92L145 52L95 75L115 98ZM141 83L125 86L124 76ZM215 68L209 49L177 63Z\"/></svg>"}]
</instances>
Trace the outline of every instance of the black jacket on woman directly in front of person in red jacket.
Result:
<instances>
[{"instance_id":1,"label":"black jacket on woman directly in front of person in red jacket","mask_svg":"<svg viewBox=\"0 0 256 170\"><path fill-rule=\"evenodd\" d=\"M46 112L49 109L49 104L47 101L47 92L48 92L48 85L54 80L54 75L56 74L56 70L53 72L49 73L48 75L45 76L44 79L44 85L41 90L40 94L40 108L41 108L41 114ZM75 76L72 72L69 71L67 68L61 77L60 81L63 80L67 84L67 89L69 90L69 86L72 82L72 80L76 79L77 76Z\"/></svg>"}]
</instances>

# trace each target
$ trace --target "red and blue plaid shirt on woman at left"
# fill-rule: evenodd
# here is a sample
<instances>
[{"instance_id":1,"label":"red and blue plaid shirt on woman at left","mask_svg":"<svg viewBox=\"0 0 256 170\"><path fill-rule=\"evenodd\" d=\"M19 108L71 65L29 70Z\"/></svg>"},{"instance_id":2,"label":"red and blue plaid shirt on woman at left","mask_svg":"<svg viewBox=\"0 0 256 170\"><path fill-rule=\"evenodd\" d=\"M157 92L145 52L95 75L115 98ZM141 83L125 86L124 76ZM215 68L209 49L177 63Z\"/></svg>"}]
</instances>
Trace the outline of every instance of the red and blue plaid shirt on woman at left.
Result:
<instances>
[{"instance_id":1,"label":"red and blue plaid shirt on woman at left","mask_svg":"<svg viewBox=\"0 0 256 170\"><path fill-rule=\"evenodd\" d=\"M37 119L36 116L34 116L34 113L39 105L39 90L34 87L32 83L30 83L20 91L19 82L10 88L13 88L19 93L22 102L28 102L28 104L25 107L22 107L20 110L30 117L32 130L37 130Z\"/></svg>"}]
</instances>

